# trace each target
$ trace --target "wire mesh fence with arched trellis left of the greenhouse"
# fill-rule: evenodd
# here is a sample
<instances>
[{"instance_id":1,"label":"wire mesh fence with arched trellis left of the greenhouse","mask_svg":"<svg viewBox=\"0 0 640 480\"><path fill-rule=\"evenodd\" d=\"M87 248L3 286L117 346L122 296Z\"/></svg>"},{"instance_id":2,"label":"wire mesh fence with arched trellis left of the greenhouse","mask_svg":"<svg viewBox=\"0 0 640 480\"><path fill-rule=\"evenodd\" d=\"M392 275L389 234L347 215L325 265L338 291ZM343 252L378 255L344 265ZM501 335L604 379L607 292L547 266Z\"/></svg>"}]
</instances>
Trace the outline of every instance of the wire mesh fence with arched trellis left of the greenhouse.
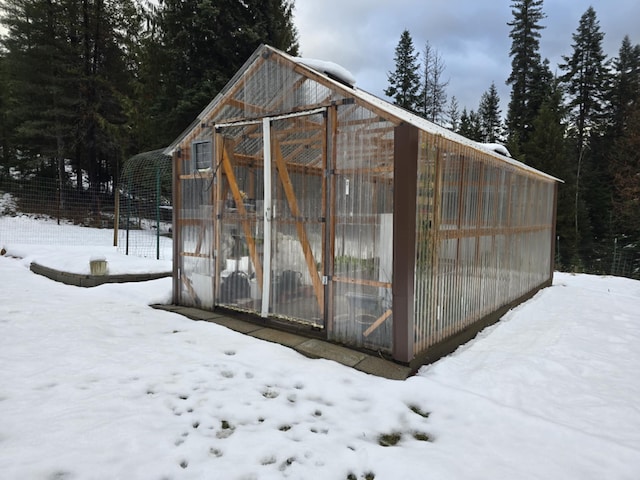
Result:
<instances>
[{"instance_id":1,"label":"wire mesh fence with arched trellis left of the greenhouse","mask_svg":"<svg viewBox=\"0 0 640 480\"><path fill-rule=\"evenodd\" d=\"M128 163L121 186L99 189L55 175L1 174L0 248L117 246L128 255L171 259L171 163L165 157L152 165L144 154L133 162L143 168Z\"/></svg>"}]
</instances>

